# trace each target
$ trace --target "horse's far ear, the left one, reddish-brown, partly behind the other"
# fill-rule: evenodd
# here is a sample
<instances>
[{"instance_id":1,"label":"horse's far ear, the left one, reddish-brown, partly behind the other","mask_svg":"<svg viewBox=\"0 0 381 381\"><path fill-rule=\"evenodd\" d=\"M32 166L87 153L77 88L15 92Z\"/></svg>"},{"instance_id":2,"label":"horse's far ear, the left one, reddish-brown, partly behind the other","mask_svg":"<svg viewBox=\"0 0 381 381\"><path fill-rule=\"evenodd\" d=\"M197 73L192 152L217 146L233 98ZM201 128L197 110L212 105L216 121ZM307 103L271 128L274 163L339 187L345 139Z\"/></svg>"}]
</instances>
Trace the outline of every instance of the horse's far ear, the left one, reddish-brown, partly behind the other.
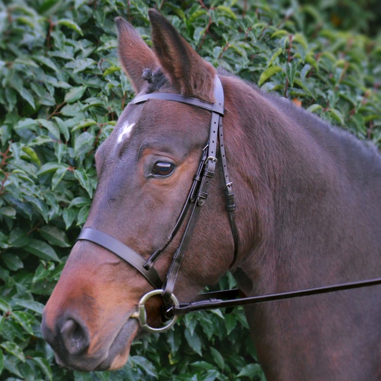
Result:
<instances>
[{"instance_id":1,"label":"horse's far ear, the left one, reddish-brown, partly behind the other","mask_svg":"<svg viewBox=\"0 0 381 381\"><path fill-rule=\"evenodd\" d=\"M118 29L118 53L125 74L131 80L136 92L146 81L142 78L144 69L154 71L159 63L153 51L146 45L136 30L122 17L115 18Z\"/></svg>"}]
</instances>

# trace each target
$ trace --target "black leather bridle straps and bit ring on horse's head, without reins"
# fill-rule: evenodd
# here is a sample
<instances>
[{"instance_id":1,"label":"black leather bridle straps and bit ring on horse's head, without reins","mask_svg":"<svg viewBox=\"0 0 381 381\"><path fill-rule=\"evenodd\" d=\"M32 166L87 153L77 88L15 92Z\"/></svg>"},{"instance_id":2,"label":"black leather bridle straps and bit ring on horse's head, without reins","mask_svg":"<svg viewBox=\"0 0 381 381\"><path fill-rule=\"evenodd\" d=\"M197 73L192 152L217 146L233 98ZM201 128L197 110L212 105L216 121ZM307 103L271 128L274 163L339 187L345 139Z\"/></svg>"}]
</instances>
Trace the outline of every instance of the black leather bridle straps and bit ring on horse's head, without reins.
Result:
<instances>
[{"instance_id":1,"label":"black leather bridle straps and bit ring on horse's head, without reins","mask_svg":"<svg viewBox=\"0 0 381 381\"><path fill-rule=\"evenodd\" d=\"M221 159L221 165L223 168L224 181L225 181L225 196L226 196L226 209L228 211L229 223L232 231L233 241L234 241L234 260L236 258L237 247L238 247L238 233L235 224L234 209L236 207L234 201L234 193L232 188L232 182L229 179L227 162L224 147L224 135L223 135L223 116L224 116L224 89L218 76L214 78L214 97L215 102L213 104L202 101L197 98L186 97L180 94L171 93L149 93L138 97L135 97L130 104L136 105L144 103L150 99L166 100L180 102L187 105L196 106L204 110L211 112L210 130L209 130L209 141L202 151L201 160L194 176L192 186L185 200L183 208L177 218L176 224L172 233L170 235L170 240L168 243L160 250L155 251L148 260L145 260L139 253L131 249L130 247L124 245L115 238L100 232L93 228L82 229L78 240L87 240L96 243L109 251L115 253L118 257L122 258L125 262L135 267L153 286L154 291L146 294L140 301L139 319L143 326L145 326L145 310L144 302L149 297L160 294L163 298L165 310L168 311L173 305L178 306L176 297L173 295L173 290L175 286L175 281L178 272L181 267L182 260L184 258L187 246L189 244L190 238L194 227L196 226L201 207L204 205L205 200L208 196L208 188L211 179L215 174L215 165L217 162L217 143L219 142L219 153ZM153 267L155 260L160 256L160 253L165 250L172 239L175 237L176 233L180 229L185 216L189 215L187 224L185 227L184 234L181 238L179 247L177 248L170 268L168 270L165 281L163 282L160 276L157 274ZM144 299L144 300L143 300ZM144 310L144 311L143 311ZM164 312L164 320L168 320L169 316L166 316ZM160 329L154 329L148 327L152 330L163 330L167 329L173 325L177 316L171 316L170 324L165 325Z\"/></svg>"}]
</instances>

